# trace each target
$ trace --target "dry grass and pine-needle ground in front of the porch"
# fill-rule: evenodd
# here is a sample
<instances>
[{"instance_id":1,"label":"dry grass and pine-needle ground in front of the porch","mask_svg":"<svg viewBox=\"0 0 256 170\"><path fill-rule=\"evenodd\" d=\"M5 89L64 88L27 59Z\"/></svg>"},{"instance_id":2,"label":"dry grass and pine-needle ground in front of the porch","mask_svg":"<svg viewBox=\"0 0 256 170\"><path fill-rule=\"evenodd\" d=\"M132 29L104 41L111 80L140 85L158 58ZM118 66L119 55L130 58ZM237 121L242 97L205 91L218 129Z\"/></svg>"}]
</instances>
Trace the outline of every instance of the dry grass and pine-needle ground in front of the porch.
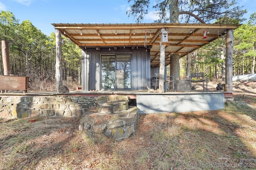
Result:
<instances>
[{"instance_id":1,"label":"dry grass and pine-needle ground in front of the porch","mask_svg":"<svg viewBox=\"0 0 256 170\"><path fill-rule=\"evenodd\" d=\"M237 86L246 90L236 98L256 105L254 86ZM244 105L140 115L130 138L101 144L81 138L79 118L28 120L1 120L0 169L256 169L256 111Z\"/></svg>"}]
</instances>

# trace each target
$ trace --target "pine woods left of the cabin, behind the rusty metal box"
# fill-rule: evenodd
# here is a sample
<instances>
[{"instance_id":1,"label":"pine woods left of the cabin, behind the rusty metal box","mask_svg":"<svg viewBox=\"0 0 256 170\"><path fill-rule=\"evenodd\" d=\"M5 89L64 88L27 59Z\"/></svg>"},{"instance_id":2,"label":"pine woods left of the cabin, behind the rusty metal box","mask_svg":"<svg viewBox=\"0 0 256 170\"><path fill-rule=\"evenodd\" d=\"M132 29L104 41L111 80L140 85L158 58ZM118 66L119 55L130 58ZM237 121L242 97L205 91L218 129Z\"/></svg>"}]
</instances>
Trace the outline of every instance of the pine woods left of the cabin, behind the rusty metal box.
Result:
<instances>
[{"instance_id":1,"label":"pine woods left of the cabin, behind the rusty metal box","mask_svg":"<svg viewBox=\"0 0 256 170\"><path fill-rule=\"evenodd\" d=\"M19 23L12 12L1 11L0 39L9 43L13 75L29 76L30 87L34 90L46 90L42 84L55 84L55 33L44 35L31 21ZM71 41L64 41L62 54L63 80L72 79L79 83L81 49ZM0 74L4 74L2 52Z\"/></svg>"}]
</instances>

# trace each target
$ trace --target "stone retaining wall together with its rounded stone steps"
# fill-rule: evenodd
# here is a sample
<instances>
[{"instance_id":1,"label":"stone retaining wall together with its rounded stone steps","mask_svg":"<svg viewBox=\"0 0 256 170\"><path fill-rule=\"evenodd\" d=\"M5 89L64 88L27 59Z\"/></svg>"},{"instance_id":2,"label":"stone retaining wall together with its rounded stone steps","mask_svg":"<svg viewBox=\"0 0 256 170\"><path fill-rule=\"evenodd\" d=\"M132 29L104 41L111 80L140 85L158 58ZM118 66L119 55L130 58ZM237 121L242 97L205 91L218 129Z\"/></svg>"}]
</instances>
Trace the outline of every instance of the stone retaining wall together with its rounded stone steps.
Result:
<instances>
[{"instance_id":1,"label":"stone retaining wall together with its rounded stone steps","mask_svg":"<svg viewBox=\"0 0 256 170\"><path fill-rule=\"evenodd\" d=\"M108 139L126 139L134 133L139 113L136 106L128 107L128 101L128 96L122 95L0 96L0 118L81 116L82 137L102 143Z\"/></svg>"}]
</instances>

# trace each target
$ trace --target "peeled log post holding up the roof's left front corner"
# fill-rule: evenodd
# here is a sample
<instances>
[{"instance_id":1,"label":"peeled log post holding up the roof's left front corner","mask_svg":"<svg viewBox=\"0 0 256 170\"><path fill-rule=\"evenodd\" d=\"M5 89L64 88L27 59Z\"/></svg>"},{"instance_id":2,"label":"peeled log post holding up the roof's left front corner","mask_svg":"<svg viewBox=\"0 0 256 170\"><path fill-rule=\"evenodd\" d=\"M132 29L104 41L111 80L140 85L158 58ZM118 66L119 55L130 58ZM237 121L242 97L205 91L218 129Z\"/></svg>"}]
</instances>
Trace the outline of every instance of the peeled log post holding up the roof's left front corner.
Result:
<instances>
[{"instance_id":1,"label":"peeled log post holding up the roof's left front corner","mask_svg":"<svg viewBox=\"0 0 256 170\"><path fill-rule=\"evenodd\" d=\"M62 68L61 68L61 58L62 58L62 50L61 50L61 32L59 29L55 29L55 37L56 37L56 93L60 93L60 88L62 87Z\"/></svg>"}]
</instances>

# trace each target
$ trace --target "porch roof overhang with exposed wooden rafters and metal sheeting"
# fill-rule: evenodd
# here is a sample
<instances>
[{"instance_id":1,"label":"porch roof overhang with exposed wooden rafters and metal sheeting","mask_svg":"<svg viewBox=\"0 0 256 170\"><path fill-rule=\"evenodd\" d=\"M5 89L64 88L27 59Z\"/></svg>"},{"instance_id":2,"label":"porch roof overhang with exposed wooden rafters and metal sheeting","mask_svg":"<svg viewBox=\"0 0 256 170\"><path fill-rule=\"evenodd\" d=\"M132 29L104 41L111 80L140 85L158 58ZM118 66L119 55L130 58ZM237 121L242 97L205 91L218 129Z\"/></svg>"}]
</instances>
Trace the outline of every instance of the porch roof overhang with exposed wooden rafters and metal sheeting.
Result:
<instances>
[{"instance_id":1,"label":"porch roof overhang with exposed wooden rafters and metal sheeting","mask_svg":"<svg viewBox=\"0 0 256 170\"><path fill-rule=\"evenodd\" d=\"M170 63L170 54L178 53L183 57L219 37L224 37L227 29L236 29L240 26L194 23L52 23L52 25L81 49L98 47L150 49L151 65L159 65L162 28L168 31L168 43L165 47L167 65ZM204 37L204 31L207 37Z\"/></svg>"}]
</instances>

